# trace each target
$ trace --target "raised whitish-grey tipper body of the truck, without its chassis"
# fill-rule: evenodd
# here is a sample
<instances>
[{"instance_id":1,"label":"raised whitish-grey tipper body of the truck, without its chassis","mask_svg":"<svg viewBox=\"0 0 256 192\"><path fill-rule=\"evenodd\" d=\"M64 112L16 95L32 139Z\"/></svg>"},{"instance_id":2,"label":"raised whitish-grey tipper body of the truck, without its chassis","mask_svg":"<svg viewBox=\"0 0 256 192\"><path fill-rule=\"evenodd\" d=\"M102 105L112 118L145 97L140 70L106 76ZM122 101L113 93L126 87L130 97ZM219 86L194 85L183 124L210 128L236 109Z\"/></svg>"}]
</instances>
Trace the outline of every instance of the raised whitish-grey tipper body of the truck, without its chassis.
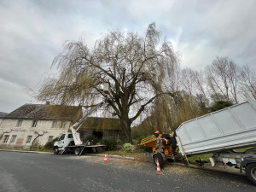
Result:
<instances>
[{"instance_id":1,"label":"raised whitish-grey tipper body of the truck, without its chassis","mask_svg":"<svg viewBox=\"0 0 256 192\"><path fill-rule=\"evenodd\" d=\"M247 102L189 120L176 133L183 155L252 146L256 144L256 101L247 97Z\"/></svg>"}]
</instances>

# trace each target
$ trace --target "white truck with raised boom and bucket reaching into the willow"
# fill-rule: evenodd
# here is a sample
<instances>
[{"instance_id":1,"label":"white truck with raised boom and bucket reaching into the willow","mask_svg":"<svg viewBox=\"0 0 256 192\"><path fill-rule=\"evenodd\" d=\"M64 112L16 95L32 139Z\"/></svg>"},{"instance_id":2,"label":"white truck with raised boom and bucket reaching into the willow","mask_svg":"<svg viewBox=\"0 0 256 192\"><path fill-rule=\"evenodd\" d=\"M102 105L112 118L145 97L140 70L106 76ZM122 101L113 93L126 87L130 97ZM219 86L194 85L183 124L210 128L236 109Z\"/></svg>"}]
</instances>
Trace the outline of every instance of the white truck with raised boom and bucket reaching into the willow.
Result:
<instances>
[{"instance_id":1,"label":"white truck with raised boom and bucket reaching into the willow","mask_svg":"<svg viewBox=\"0 0 256 192\"><path fill-rule=\"evenodd\" d=\"M106 94L109 94L109 84L104 84L103 91ZM79 119L74 125L71 127L72 132L64 133L58 141L54 143L54 154L64 154L65 152L71 151L74 154L81 155L83 154L84 150L87 152L92 152L93 150L98 150L100 148L106 148L106 145L93 145L90 141L87 141L83 144L79 136L79 128L83 124L84 120L93 112L96 111L97 108L100 108L104 102L96 104L93 106L88 113L84 113L83 117Z\"/></svg>"}]
</instances>

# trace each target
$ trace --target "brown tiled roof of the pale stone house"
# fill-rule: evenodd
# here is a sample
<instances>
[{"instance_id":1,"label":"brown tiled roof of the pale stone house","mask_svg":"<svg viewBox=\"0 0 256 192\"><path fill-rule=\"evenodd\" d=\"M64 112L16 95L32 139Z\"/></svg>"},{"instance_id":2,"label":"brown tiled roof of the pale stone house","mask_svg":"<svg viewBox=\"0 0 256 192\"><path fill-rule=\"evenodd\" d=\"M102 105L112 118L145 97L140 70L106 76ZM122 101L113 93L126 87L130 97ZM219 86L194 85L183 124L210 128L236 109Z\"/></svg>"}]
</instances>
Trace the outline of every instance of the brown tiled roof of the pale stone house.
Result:
<instances>
[{"instance_id":1,"label":"brown tiled roof of the pale stone house","mask_svg":"<svg viewBox=\"0 0 256 192\"><path fill-rule=\"evenodd\" d=\"M78 118L80 112L81 107L78 106L25 104L3 119L73 120Z\"/></svg>"}]
</instances>

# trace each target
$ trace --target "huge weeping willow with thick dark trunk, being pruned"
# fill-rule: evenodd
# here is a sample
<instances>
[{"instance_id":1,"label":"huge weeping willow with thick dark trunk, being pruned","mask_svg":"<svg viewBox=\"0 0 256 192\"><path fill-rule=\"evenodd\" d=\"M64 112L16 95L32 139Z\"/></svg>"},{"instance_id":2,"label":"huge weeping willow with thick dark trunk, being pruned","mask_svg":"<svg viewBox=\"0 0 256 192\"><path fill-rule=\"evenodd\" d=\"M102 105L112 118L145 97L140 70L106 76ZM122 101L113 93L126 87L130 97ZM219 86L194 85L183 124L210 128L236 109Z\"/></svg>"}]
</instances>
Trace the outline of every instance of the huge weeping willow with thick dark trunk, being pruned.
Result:
<instances>
[{"instance_id":1,"label":"huge weeping willow with thick dark trunk, being pruned","mask_svg":"<svg viewBox=\"0 0 256 192\"><path fill-rule=\"evenodd\" d=\"M90 105L103 99L132 142L132 122L163 93L165 77L177 62L172 44L160 43L159 34L152 23L144 36L112 31L91 49L83 41L65 44L53 61L59 74L44 79L38 100ZM104 83L110 84L109 95L101 89Z\"/></svg>"}]
</instances>

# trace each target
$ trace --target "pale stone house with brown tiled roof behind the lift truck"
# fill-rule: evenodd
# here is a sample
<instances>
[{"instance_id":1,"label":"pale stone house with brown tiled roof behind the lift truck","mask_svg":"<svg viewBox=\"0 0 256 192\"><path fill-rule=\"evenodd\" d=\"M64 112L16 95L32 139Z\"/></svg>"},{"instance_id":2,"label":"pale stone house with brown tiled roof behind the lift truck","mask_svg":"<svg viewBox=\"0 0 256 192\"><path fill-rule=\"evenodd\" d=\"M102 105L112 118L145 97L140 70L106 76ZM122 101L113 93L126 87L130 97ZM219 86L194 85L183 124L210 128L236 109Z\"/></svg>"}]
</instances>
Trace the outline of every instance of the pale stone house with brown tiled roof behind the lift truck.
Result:
<instances>
[{"instance_id":1,"label":"pale stone house with brown tiled roof behind the lift truck","mask_svg":"<svg viewBox=\"0 0 256 192\"><path fill-rule=\"evenodd\" d=\"M30 148L60 137L79 119L81 107L25 104L5 115L0 123L0 146Z\"/></svg>"}]
</instances>

